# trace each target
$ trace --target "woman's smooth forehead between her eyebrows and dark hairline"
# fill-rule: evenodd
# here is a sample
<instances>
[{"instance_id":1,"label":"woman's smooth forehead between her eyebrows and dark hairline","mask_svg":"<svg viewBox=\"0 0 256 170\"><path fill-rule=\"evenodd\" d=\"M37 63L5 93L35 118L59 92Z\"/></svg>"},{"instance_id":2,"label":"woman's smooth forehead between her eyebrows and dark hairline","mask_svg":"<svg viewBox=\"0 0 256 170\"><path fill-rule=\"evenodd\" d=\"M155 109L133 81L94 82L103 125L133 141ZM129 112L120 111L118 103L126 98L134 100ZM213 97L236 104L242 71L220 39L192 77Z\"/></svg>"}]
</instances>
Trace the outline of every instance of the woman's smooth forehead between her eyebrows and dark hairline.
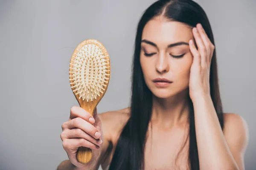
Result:
<instances>
[{"instance_id":1,"label":"woman's smooth forehead between her eyebrows and dark hairline","mask_svg":"<svg viewBox=\"0 0 256 170\"><path fill-rule=\"evenodd\" d=\"M190 26L177 21L163 20L160 17L148 21L142 33L142 40L152 41L157 46L180 41L189 42L192 37Z\"/></svg>"}]
</instances>

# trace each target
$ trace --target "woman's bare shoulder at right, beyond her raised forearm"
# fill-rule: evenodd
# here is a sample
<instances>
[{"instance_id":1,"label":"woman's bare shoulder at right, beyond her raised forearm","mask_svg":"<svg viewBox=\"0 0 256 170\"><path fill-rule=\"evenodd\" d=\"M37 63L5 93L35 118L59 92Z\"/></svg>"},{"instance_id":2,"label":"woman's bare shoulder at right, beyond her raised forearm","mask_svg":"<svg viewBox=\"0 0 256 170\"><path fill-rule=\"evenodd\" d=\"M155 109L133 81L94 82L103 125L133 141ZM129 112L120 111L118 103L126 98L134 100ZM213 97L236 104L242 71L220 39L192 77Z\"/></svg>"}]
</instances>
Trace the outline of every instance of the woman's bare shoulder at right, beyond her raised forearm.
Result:
<instances>
[{"instance_id":1,"label":"woman's bare shoulder at right, beyond her raised forearm","mask_svg":"<svg viewBox=\"0 0 256 170\"><path fill-rule=\"evenodd\" d=\"M224 136L231 150L245 152L249 131L244 118L235 113L224 113Z\"/></svg>"}]
</instances>

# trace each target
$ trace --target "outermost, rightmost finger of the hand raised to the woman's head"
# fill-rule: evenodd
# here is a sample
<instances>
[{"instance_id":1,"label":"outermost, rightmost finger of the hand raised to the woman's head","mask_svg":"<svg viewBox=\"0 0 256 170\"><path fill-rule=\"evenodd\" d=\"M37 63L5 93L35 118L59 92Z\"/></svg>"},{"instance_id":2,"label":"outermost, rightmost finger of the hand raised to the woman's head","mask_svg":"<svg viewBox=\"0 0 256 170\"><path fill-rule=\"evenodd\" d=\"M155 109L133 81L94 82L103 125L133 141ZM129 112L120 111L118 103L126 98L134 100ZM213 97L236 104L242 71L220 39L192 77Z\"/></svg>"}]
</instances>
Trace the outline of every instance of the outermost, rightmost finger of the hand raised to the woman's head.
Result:
<instances>
[{"instance_id":1,"label":"outermost, rightmost finger of the hand raised to the woman's head","mask_svg":"<svg viewBox=\"0 0 256 170\"><path fill-rule=\"evenodd\" d=\"M206 62L209 64L210 58L211 58L211 53L212 53L212 42L209 40L209 37L207 36L206 32L204 31L204 28L202 27L201 24L197 25L198 32L204 42L204 46L206 47L207 50L207 55L206 55Z\"/></svg>"}]
</instances>

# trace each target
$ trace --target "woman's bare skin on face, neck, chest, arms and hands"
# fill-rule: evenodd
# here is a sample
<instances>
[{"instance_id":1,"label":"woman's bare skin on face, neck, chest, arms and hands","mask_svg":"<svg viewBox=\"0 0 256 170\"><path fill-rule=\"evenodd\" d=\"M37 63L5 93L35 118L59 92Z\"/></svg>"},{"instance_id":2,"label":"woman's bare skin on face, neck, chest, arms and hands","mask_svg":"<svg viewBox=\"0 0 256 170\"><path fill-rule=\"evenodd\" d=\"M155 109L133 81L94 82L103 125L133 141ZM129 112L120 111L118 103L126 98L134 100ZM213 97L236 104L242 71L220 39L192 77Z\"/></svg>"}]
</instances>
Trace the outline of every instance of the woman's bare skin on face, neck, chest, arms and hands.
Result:
<instances>
[{"instance_id":1,"label":"woman's bare skin on face, neck, chest, arms and hands","mask_svg":"<svg viewBox=\"0 0 256 170\"><path fill-rule=\"evenodd\" d=\"M140 64L146 85L153 94L152 119L145 145L145 169L188 169L189 145L186 137L189 130L187 102L190 97L195 111L200 168L244 170L247 124L237 114L224 113L224 132L221 130L209 93L209 66L214 45L204 29L198 24L192 31L191 27L183 23L156 17L145 25L142 40ZM193 43L189 44L190 40ZM169 44L176 42L187 44L168 48ZM195 48L195 43L198 49ZM152 55L145 56L145 53ZM183 57L174 57L181 54L184 54ZM152 81L158 77L169 79L172 84L159 88ZM110 164L122 127L129 118L129 108L101 114L95 112L94 124L89 123L90 117L92 116L82 108L71 109L70 120L62 125L61 133L63 147L70 160L61 162L58 170L96 170L100 164L106 169ZM81 130L75 133L76 129ZM99 138L94 136L96 131L101 134ZM74 139L75 137L81 139ZM103 143L97 144L97 141ZM87 165L80 164L75 159L79 146L96 150L93 161Z\"/></svg>"}]
</instances>

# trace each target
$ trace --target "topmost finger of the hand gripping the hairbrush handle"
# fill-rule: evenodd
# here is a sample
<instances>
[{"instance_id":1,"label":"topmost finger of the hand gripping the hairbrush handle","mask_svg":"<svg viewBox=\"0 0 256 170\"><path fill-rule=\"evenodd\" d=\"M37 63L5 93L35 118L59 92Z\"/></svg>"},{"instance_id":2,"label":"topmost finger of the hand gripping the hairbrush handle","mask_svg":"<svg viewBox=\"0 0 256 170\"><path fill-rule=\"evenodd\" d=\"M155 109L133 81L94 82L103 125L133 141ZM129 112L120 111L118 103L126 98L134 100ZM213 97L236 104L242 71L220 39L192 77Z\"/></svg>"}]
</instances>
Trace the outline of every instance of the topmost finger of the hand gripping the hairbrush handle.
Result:
<instances>
[{"instance_id":1,"label":"topmost finger of the hand gripping the hairbrush handle","mask_svg":"<svg viewBox=\"0 0 256 170\"><path fill-rule=\"evenodd\" d=\"M90 122L91 124L95 123L95 119L89 112L85 111L81 107L73 106L70 109L70 120L76 117L81 117L82 119L86 120L87 122Z\"/></svg>"}]
</instances>

